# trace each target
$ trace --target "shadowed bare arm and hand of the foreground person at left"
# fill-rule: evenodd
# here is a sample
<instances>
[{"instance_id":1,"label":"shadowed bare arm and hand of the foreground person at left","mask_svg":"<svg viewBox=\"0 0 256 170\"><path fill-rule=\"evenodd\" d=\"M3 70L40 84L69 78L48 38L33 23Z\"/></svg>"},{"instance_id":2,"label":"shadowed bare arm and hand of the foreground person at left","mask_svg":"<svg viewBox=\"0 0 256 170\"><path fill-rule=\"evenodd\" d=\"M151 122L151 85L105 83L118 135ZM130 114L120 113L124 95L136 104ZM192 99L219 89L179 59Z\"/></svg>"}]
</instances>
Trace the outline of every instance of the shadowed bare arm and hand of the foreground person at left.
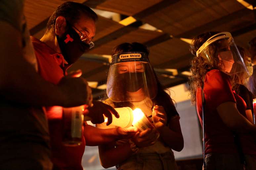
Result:
<instances>
[{"instance_id":1,"label":"shadowed bare arm and hand of the foreground person at left","mask_svg":"<svg viewBox=\"0 0 256 170\"><path fill-rule=\"evenodd\" d=\"M68 80L59 87L43 80L33 66L23 58L22 45L19 41L21 33L7 22L0 21L0 24L0 94L5 100L34 106L67 107L85 103L81 99L70 102L70 96L72 98L74 95L70 95L72 90L69 92L69 88L65 86ZM81 81L79 78L72 79Z\"/></svg>"}]
</instances>

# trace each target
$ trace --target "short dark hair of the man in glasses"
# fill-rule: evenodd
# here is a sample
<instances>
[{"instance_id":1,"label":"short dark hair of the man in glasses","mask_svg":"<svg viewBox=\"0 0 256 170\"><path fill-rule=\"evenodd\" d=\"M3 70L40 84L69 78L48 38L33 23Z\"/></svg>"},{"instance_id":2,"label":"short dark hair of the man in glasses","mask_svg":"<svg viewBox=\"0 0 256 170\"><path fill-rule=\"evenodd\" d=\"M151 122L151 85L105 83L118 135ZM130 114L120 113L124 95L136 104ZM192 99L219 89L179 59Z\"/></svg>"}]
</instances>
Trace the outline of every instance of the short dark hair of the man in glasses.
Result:
<instances>
[{"instance_id":1,"label":"short dark hair of the man in glasses","mask_svg":"<svg viewBox=\"0 0 256 170\"><path fill-rule=\"evenodd\" d=\"M98 15L84 4L77 2L65 2L59 5L47 22L46 32L54 28L56 19L59 16L64 16L69 23L74 24L80 19L81 14L86 15L94 21L98 20Z\"/></svg>"}]
</instances>

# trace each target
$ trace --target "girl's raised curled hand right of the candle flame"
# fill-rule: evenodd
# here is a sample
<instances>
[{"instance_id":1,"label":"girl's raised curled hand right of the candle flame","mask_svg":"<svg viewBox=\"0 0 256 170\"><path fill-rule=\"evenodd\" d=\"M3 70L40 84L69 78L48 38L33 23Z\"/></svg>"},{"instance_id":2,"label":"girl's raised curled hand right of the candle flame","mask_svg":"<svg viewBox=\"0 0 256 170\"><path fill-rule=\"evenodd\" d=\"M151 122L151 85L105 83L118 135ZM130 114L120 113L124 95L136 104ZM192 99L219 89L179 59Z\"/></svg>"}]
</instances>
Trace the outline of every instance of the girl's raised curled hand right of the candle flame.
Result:
<instances>
[{"instance_id":1,"label":"girl's raised curled hand right of the candle flame","mask_svg":"<svg viewBox=\"0 0 256 170\"><path fill-rule=\"evenodd\" d=\"M162 129L167 123L167 116L163 106L155 105L152 112L152 121L157 130Z\"/></svg>"}]
</instances>

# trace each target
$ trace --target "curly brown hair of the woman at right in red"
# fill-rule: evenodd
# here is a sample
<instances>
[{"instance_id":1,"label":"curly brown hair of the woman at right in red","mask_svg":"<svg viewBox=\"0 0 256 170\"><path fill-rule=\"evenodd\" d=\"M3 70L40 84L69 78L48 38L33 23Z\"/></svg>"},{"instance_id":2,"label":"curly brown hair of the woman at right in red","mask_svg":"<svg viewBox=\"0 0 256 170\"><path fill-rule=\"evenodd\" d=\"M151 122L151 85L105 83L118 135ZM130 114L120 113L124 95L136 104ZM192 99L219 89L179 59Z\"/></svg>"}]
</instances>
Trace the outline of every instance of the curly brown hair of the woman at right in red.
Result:
<instances>
[{"instance_id":1,"label":"curly brown hair of the woman at right in red","mask_svg":"<svg viewBox=\"0 0 256 170\"><path fill-rule=\"evenodd\" d=\"M196 89L201 88L204 81L205 74L213 69L221 69L223 67L223 63L217 57L218 47L220 46L220 41L212 43L208 46L208 52L210 57L210 61L205 59L203 55L200 53L198 57L196 56L196 51L205 43L210 37L220 32L206 32L192 40L192 44L190 46L190 51L195 57L191 61L190 71L192 76L189 78L190 92L191 92L191 102L195 103L196 98Z\"/></svg>"}]
</instances>

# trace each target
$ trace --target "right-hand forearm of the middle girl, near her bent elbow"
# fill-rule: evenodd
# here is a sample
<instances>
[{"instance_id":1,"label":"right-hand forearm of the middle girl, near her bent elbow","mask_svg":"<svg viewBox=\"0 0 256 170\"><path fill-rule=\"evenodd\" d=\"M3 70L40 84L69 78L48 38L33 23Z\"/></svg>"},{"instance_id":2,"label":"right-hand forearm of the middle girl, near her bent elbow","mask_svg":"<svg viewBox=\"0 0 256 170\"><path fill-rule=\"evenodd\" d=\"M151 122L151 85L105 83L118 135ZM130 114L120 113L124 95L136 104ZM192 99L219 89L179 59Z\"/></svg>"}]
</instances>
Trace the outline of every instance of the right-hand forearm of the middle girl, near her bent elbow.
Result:
<instances>
[{"instance_id":1,"label":"right-hand forearm of the middle girl, near her bent elbow","mask_svg":"<svg viewBox=\"0 0 256 170\"><path fill-rule=\"evenodd\" d=\"M173 150L180 152L184 147L183 136L179 132L171 130L169 127L164 126L158 130L162 140Z\"/></svg>"}]
</instances>

